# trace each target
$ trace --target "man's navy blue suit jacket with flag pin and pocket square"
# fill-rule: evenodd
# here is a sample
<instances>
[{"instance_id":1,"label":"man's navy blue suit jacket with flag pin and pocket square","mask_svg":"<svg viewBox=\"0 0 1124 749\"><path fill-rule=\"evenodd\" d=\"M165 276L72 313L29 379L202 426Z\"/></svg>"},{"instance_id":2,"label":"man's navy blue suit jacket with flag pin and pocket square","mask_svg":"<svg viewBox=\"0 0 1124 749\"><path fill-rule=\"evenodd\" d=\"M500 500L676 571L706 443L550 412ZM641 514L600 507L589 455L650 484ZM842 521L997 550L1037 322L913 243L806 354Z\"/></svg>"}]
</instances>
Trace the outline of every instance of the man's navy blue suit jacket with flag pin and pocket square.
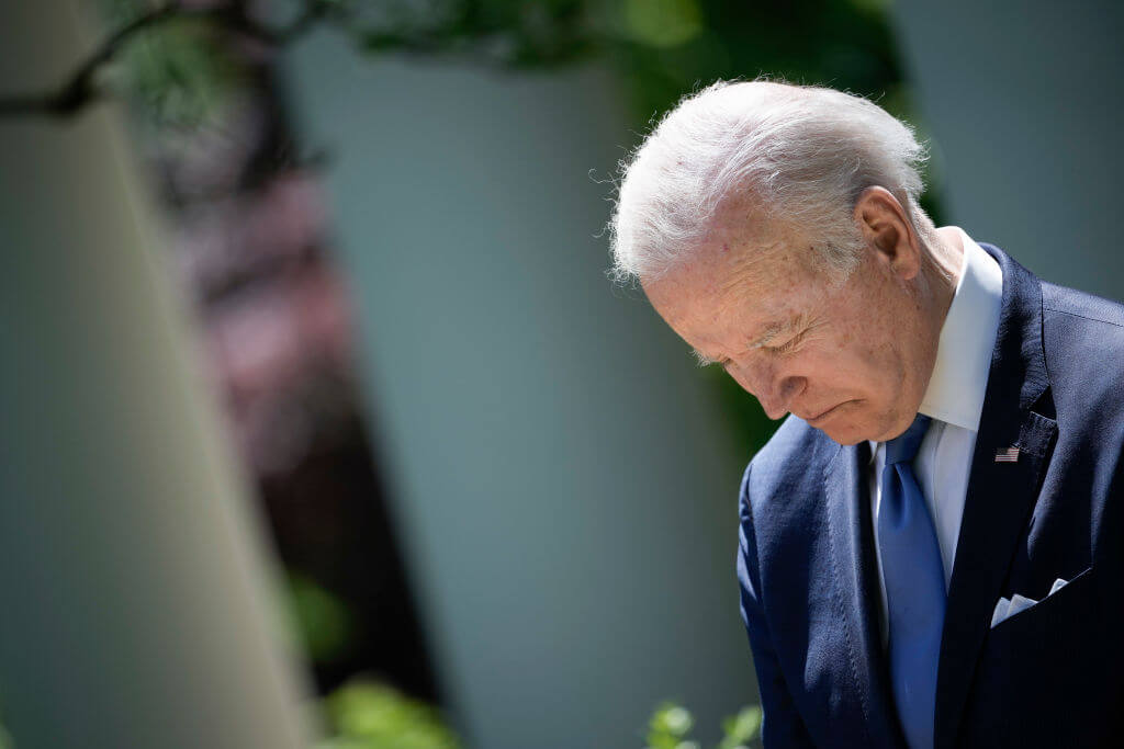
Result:
<instances>
[{"instance_id":1,"label":"man's navy blue suit jacket with flag pin and pocket square","mask_svg":"<svg viewBox=\"0 0 1124 749\"><path fill-rule=\"evenodd\" d=\"M984 248L1003 268L1003 311L949 587L935 745L1116 745L1124 307ZM1010 446L1017 462L996 463ZM767 749L905 747L879 636L869 449L789 417L745 471L737 576ZM1071 582L1046 597L1058 577ZM996 601L1015 593L1041 601L991 629Z\"/></svg>"}]
</instances>

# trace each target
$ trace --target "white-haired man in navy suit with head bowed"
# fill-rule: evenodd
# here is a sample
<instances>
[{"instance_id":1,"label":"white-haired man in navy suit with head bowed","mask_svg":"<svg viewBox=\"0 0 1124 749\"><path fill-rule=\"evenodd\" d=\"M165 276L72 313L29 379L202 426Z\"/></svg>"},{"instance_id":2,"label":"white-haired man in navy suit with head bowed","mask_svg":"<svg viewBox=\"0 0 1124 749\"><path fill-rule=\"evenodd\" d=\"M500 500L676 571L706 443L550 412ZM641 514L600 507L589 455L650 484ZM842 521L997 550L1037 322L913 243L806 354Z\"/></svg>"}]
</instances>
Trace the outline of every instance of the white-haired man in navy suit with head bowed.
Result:
<instances>
[{"instance_id":1,"label":"white-haired man in navy suit with head bowed","mask_svg":"<svg viewBox=\"0 0 1124 749\"><path fill-rule=\"evenodd\" d=\"M790 414L740 496L767 748L1105 746L1124 308L935 228L923 157L863 99L713 85L627 165L616 270Z\"/></svg>"}]
</instances>

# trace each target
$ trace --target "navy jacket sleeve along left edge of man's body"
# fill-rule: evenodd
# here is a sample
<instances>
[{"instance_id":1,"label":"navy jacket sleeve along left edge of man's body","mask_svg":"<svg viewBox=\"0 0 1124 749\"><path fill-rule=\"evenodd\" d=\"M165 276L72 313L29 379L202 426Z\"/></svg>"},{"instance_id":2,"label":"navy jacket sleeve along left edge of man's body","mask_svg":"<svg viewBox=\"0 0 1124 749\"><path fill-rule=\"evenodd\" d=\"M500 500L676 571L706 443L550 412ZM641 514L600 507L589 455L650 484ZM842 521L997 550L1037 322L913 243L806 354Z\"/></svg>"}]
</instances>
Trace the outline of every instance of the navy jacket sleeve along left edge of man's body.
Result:
<instances>
[{"instance_id":1,"label":"navy jacket sleeve along left edge of man's body","mask_svg":"<svg viewBox=\"0 0 1124 749\"><path fill-rule=\"evenodd\" d=\"M750 467L752 468L752 466ZM738 496L738 545L737 582L741 588L742 621L750 637L753 666L758 674L761 692L761 709L764 721L761 724L761 741L765 749L788 749L789 747L814 747L808 730L800 720L792 695L785 682L773 649L769 625L761 606L761 576L756 539L753 530L753 513L750 505L750 468L742 478Z\"/></svg>"}]
</instances>

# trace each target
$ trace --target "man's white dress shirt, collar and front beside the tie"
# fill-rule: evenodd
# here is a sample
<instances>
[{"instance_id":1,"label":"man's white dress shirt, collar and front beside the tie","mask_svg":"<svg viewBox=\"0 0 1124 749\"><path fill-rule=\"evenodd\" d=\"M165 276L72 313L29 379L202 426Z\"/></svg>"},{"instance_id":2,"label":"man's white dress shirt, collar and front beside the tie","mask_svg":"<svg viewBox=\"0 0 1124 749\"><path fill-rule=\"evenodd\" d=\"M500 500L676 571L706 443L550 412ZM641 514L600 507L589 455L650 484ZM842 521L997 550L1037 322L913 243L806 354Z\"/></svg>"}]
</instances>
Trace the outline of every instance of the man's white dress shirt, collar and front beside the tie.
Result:
<instances>
[{"instance_id":1,"label":"man's white dress shirt, collar and front beside the tie","mask_svg":"<svg viewBox=\"0 0 1124 749\"><path fill-rule=\"evenodd\" d=\"M957 291L941 328L933 376L921 402L921 412L932 417L933 421L914 459L914 473L921 483L941 547L945 590L952 579L972 450L984 410L987 375L1003 302L1003 271L999 264L963 230L958 228L957 231L964 247L963 259ZM886 442L871 441L870 446L870 515L874 523L885 647L886 581L882 577L882 551L878 546L877 529L881 501L879 477L886 464Z\"/></svg>"}]
</instances>

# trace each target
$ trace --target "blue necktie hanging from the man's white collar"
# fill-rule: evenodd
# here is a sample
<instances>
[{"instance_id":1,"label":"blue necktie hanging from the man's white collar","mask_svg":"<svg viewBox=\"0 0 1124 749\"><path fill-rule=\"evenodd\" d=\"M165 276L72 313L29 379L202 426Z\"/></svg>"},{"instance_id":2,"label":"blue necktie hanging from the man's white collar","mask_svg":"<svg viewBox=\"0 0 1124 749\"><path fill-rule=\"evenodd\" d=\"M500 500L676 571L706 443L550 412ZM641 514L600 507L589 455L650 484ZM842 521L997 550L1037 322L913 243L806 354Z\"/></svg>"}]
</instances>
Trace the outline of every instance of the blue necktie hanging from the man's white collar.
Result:
<instances>
[{"instance_id":1,"label":"blue necktie hanging from the man's white collar","mask_svg":"<svg viewBox=\"0 0 1124 749\"><path fill-rule=\"evenodd\" d=\"M928 429L917 414L904 435L886 444L878 547L889 618L890 679L910 749L931 749L936 709L936 666L944 625L944 567L913 459Z\"/></svg>"}]
</instances>

